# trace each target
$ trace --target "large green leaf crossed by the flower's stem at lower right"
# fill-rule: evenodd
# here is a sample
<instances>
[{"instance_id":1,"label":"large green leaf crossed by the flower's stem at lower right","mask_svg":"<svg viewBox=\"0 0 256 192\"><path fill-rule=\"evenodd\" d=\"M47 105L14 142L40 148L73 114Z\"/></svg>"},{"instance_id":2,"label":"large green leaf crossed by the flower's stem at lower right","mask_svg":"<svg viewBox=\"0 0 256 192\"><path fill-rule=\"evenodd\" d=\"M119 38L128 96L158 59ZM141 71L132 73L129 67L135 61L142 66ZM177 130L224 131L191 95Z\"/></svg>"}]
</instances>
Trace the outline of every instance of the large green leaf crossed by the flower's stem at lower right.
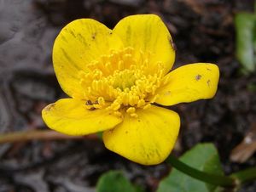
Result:
<instances>
[{"instance_id":1,"label":"large green leaf crossed by the flower's stem at lower right","mask_svg":"<svg viewBox=\"0 0 256 192\"><path fill-rule=\"evenodd\" d=\"M216 175L223 175L218 159L218 151L213 144L197 144L179 158L180 161L198 170ZM164 178L157 192L213 192L219 191L214 185L206 184L191 178L183 172L173 168L172 172Z\"/></svg>"}]
</instances>

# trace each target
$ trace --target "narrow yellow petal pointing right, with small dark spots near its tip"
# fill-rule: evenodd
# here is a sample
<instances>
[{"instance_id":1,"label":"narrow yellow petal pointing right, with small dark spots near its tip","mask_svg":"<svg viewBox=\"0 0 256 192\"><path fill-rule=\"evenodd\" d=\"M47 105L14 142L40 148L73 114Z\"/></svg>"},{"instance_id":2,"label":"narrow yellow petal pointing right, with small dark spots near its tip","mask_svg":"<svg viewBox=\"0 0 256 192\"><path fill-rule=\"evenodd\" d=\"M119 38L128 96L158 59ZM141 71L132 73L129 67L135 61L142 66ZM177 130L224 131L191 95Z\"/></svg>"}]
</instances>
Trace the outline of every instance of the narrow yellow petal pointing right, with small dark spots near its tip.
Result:
<instances>
[{"instance_id":1,"label":"narrow yellow petal pointing right, with small dark spots near its tip","mask_svg":"<svg viewBox=\"0 0 256 192\"><path fill-rule=\"evenodd\" d=\"M214 64L183 65L165 76L167 84L156 91L157 104L172 105L211 99L218 88L219 71Z\"/></svg>"}]
</instances>

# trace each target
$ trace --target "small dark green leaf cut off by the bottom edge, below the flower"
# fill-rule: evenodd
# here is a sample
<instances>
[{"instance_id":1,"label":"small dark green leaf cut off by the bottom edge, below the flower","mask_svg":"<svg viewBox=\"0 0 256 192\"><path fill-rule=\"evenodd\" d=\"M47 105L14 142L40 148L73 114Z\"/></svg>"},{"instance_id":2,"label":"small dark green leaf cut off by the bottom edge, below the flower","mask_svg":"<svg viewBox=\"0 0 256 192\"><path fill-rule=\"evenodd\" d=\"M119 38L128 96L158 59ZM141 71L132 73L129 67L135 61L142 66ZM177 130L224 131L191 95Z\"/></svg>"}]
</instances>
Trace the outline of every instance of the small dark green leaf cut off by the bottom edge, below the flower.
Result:
<instances>
[{"instance_id":1,"label":"small dark green leaf cut off by the bottom edge, below the flower","mask_svg":"<svg viewBox=\"0 0 256 192\"><path fill-rule=\"evenodd\" d=\"M122 172L109 171L102 174L96 184L97 192L137 192L138 189L125 178Z\"/></svg>"}]
</instances>

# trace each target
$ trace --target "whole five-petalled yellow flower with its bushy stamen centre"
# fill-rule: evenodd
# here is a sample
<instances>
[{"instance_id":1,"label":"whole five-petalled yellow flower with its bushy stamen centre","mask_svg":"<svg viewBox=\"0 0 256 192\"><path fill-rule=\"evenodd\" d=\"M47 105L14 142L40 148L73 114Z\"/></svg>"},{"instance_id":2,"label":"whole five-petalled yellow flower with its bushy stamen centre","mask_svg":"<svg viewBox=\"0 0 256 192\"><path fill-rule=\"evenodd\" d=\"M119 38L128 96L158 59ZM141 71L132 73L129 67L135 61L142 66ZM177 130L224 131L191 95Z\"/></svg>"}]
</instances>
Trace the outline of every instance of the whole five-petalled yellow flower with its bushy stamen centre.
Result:
<instances>
[{"instance_id":1,"label":"whole five-petalled yellow flower with its bushy stamen centre","mask_svg":"<svg viewBox=\"0 0 256 192\"><path fill-rule=\"evenodd\" d=\"M74 20L53 48L55 74L71 98L49 104L43 119L70 135L103 131L108 150L159 164L180 127L177 113L160 105L210 99L218 87L217 65L190 64L168 73L174 59L172 37L157 15L125 17L113 30L96 20Z\"/></svg>"}]
</instances>

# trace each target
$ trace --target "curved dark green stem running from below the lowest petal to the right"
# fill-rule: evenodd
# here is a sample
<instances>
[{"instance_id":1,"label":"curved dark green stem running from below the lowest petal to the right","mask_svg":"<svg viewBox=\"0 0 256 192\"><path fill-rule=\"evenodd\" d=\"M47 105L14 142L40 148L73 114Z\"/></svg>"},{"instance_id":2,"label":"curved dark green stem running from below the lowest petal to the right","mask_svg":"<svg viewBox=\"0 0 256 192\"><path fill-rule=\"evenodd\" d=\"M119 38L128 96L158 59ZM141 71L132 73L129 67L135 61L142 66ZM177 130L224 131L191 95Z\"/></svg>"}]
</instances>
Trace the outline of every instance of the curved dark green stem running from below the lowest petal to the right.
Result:
<instances>
[{"instance_id":1,"label":"curved dark green stem running from below the lowest petal to the right","mask_svg":"<svg viewBox=\"0 0 256 192\"><path fill-rule=\"evenodd\" d=\"M225 188L234 188L237 184L235 177L233 178L233 177L222 176L222 175L213 175L208 172L202 172L193 167L189 167L182 161L179 161L173 155L170 155L168 157L167 162L170 163L172 167L175 167L178 171L183 172L192 178L199 179L208 184L214 184L214 185L222 186Z\"/></svg>"}]
</instances>

